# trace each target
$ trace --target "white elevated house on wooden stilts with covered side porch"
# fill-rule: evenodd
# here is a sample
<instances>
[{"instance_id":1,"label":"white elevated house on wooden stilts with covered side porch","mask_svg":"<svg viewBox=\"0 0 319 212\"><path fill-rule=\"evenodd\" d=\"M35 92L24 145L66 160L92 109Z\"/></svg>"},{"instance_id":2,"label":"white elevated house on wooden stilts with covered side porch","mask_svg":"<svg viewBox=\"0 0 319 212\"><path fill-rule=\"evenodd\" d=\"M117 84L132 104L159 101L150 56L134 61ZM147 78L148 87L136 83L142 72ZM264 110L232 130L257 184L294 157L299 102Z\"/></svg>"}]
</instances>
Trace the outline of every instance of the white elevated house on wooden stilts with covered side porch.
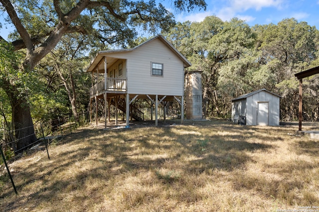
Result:
<instances>
[{"instance_id":1,"label":"white elevated house on wooden stilts with covered side porch","mask_svg":"<svg viewBox=\"0 0 319 212\"><path fill-rule=\"evenodd\" d=\"M143 114L132 105L136 99L146 99L155 105L155 125L158 125L158 107L161 102L177 100L184 117L184 68L191 63L162 35L158 35L132 49L99 51L87 72L92 74L90 89L90 120L92 103L95 112L104 105L105 127L110 114L108 108L115 106L115 123L118 110L126 113L126 126L130 117L142 120ZM96 125L98 125L96 115Z\"/></svg>"}]
</instances>

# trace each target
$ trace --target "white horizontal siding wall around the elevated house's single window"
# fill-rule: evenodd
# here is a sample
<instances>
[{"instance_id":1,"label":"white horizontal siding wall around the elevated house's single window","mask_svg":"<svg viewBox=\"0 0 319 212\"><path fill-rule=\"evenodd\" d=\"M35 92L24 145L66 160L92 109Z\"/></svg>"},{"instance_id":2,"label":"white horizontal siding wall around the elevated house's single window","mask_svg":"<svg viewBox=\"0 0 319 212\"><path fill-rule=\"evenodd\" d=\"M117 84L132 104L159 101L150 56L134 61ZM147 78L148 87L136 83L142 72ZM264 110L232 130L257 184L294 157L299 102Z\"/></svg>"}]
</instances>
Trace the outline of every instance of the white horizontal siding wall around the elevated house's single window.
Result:
<instances>
[{"instance_id":1,"label":"white horizontal siding wall around the elevated house's single window","mask_svg":"<svg viewBox=\"0 0 319 212\"><path fill-rule=\"evenodd\" d=\"M129 94L183 95L183 63L159 39L131 52L113 53L112 57L127 59ZM151 76L152 62L163 64L163 76Z\"/></svg>"}]
</instances>

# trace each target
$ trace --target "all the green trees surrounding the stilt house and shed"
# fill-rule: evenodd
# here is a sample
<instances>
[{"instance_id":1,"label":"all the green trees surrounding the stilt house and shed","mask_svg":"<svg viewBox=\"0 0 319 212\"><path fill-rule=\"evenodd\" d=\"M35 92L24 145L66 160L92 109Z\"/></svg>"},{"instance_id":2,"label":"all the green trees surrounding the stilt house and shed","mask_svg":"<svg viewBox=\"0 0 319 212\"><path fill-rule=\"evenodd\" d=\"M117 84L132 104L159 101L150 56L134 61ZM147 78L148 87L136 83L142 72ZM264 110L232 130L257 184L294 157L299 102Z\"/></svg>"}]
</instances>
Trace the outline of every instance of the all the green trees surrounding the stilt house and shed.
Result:
<instances>
[{"instance_id":1,"label":"all the green trees surrounding the stilt house and shed","mask_svg":"<svg viewBox=\"0 0 319 212\"><path fill-rule=\"evenodd\" d=\"M172 0L178 11L205 9L204 0ZM176 23L155 0L0 0L15 31L0 37L0 119L14 129L17 148L36 140L29 126L88 108L85 67L97 50L128 48L161 32L202 72L203 114L230 117L230 100L265 88L281 99L281 120L297 119L295 73L319 65L319 32L294 18L249 26L208 16ZM140 37L139 37L140 36ZM305 80L304 117L319 120L319 77ZM3 124L2 124L3 125ZM26 130L27 129L27 130ZM28 139L22 139L28 137Z\"/></svg>"}]
</instances>

